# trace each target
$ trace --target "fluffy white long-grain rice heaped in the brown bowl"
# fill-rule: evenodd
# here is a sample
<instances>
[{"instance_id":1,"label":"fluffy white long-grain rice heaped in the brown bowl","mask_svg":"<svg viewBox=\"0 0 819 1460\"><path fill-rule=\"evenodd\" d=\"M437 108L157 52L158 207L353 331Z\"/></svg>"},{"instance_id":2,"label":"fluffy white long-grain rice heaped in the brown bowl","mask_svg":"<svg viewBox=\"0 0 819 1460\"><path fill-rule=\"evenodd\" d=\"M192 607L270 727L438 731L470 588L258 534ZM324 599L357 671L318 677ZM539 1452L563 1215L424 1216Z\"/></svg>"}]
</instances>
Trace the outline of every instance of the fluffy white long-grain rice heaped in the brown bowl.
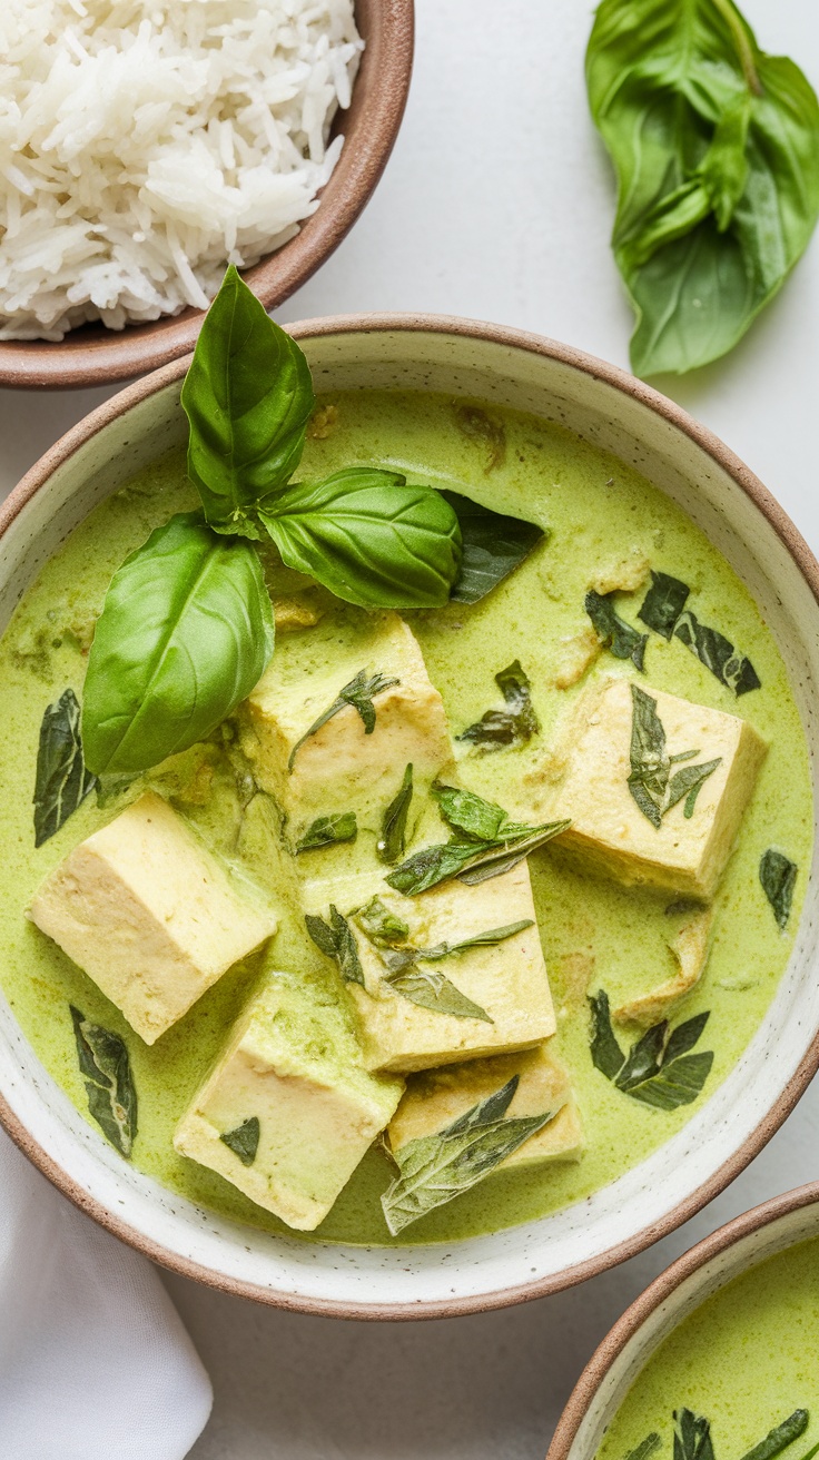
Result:
<instances>
[{"instance_id":1,"label":"fluffy white long-grain rice heaped in the brown bowl","mask_svg":"<svg viewBox=\"0 0 819 1460\"><path fill-rule=\"evenodd\" d=\"M342 150L352 0L0 0L0 339L206 308Z\"/></svg>"}]
</instances>

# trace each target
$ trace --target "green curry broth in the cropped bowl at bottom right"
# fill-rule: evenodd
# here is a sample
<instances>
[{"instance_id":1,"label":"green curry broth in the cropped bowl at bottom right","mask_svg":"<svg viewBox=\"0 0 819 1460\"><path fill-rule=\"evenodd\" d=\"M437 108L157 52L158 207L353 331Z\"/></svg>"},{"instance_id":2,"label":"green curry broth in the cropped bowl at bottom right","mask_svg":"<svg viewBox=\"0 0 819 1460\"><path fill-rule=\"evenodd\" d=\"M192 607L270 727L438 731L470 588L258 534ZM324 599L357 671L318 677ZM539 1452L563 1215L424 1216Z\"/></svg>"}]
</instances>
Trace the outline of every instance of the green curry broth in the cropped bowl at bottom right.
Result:
<instances>
[{"instance_id":1,"label":"green curry broth in the cropped bowl at bottom right","mask_svg":"<svg viewBox=\"0 0 819 1460\"><path fill-rule=\"evenodd\" d=\"M707 1421L715 1460L746 1456L790 1421L768 1454L803 1460L819 1441L819 1242L800 1242L734 1278L660 1345L599 1450L622 1460L650 1435L673 1454L674 1419ZM788 1444L783 1441L788 1441Z\"/></svg>"}]
</instances>

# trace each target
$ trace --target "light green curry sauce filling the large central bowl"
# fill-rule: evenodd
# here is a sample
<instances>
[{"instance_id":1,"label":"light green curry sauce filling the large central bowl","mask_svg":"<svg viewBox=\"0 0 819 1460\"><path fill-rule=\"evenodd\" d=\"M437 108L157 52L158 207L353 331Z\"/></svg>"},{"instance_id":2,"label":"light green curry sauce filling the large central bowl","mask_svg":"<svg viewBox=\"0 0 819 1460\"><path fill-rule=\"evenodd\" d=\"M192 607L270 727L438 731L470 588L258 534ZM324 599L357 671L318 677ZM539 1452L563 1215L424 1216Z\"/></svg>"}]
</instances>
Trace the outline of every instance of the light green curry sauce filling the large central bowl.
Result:
<instances>
[{"instance_id":1,"label":"light green curry sauce filling the large central bowl","mask_svg":"<svg viewBox=\"0 0 819 1460\"><path fill-rule=\"evenodd\" d=\"M780 931L759 883L759 858L774 845L806 869L812 847L812 794L807 749L785 669L750 594L707 537L666 496L615 457L569 432L514 412L493 410L498 441L464 434L445 397L350 393L333 397L331 429L308 437L299 476L309 479L345 464L391 466L410 480L453 486L499 511L549 530L530 558L474 606L406 615L432 683L439 689L453 734L499 701L493 676L520 658L531 680L540 734L520 749L467 755L463 784L499 802L527 822L542 816L536 774L565 715L585 683L603 673L634 673L603 653L582 683L553 685L559 641L588 628L584 594L600 566L644 553L651 565L685 578L701 618L742 647L762 688L737 699L677 639L650 637L645 676L650 691L674 695L746 717L769 743L739 845L715 899L714 943L705 975L682 1006L682 1018L710 1010L702 1048L714 1051L704 1094L676 1111L629 1099L593 1067L588 1050L588 991L607 990L612 1007L663 983L674 971L669 896L628 889L571 861L556 842L536 853L530 870L543 949L558 1010L556 1053L569 1069L585 1130L577 1164L495 1172L472 1191L401 1232L400 1242L451 1241L524 1222L616 1180L679 1130L730 1072L755 1034L787 964L799 921L804 873L796 883L787 931ZM305 978L331 980L292 896L292 875L264 828L241 825L235 799L213 794L204 804L175 803L212 847L238 863L277 902L280 930L267 955L226 974L153 1047L146 1047L118 1010L66 955L25 917L39 883L67 851L109 821L121 806L99 807L91 796L42 847L34 847L32 790L38 733L45 707L67 685L82 695L89 623L99 613L108 581L149 531L171 512L196 505L184 454L175 453L136 476L104 502L66 542L25 594L0 645L0 694L6 743L0 758L0 803L6 816L4 898L0 921L0 980L36 1054L88 1115L77 1069L69 1003L118 1031L128 1044L139 1091L139 1134L133 1161L145 1172L194 1202L255 1226L285 1231L277 1218L172 1148L174 1127L216 1058L263 958ZM273 583L276 591L276 583ZM635 622L642 593L618 597L618 612ZM333 613L349 613L336 600ZM326 625L331 618L326 616ZM276 653L298 656L311 631L279 637ZM317 641L321 638L317 634ZM85 650L85 653L83 653ZM219 778L215 781L219 793ZM539 788L540 787L540 788ZM339 809L339 807L334 807ZM359 837L359 842L362 838ZM9 856L9 848L15 854ZM356 850L361 853L361 847ZM346 858L328 848L311 858ZM342 863L339 861L339 866ZM304 869L307 870L307 867ZM593 964L591 964L593 959ZM345 997L340 990L337 996ZM676 1018L674 1012L674 1018ZM393 1167L374 1148L339 1197L315 1238L345 1242L390 1241L380 1206Z\"/></svg>"}]
</instances>

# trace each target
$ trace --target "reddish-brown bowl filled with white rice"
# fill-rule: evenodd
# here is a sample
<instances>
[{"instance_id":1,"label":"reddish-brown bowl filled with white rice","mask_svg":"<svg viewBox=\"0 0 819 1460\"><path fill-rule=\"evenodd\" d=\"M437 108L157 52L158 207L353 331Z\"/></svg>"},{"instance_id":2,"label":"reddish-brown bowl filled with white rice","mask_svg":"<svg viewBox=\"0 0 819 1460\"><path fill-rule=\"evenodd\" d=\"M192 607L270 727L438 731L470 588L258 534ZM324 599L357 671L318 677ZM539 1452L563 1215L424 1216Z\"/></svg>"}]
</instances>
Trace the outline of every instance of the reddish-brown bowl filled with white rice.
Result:
<instances>
[{"instance_id":1,"label":"reddish-brown bowl filled with white rice","mask_svg":"<svg viewBox=\"0 0 819 1460\"><path fill-rule=\"evenodd\" d=\"M269 310L401 121L413 0L3 0L0 385L187 353L228 263Z\"/></svg>"}]
</instances>

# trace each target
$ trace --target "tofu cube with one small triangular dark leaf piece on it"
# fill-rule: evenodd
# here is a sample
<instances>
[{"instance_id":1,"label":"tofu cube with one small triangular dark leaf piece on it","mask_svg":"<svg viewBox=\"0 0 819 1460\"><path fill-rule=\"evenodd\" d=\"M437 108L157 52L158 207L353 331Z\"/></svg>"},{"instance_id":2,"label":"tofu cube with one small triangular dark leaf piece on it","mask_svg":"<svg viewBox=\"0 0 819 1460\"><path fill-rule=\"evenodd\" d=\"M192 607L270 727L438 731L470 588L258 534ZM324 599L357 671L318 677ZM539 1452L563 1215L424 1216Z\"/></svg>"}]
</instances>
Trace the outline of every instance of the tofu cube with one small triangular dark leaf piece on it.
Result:
<instances>
[{"instance_id":1,"label":"tofu cube with one small triangular dark leaf piece on it","mask_svg":"<svg viewBox=\"0 0 819 1460\"><path fill-rule=\"evenodd\" d=\"M403 1088L361 1067L340 1003L288 974L266 974L174 1145L288 1226L311 1232Z\"/></svg>"}]
</instances>

